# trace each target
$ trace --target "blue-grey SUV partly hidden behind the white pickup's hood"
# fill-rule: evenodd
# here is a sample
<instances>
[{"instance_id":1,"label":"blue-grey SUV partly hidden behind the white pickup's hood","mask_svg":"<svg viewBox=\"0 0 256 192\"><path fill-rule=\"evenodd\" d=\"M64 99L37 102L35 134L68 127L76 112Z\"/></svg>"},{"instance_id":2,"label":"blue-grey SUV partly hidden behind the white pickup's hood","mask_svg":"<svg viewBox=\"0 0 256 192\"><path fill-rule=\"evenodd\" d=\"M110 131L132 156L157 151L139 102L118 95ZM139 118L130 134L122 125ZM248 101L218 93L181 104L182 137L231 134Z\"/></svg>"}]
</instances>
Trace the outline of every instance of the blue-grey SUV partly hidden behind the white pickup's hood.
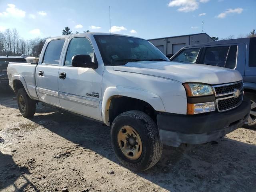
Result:
<instances>
[{"instance_id":1,"label":"blue-grey SUV partly hidden behind the white pickup's hood","mask_svg":"<svg viewBox=\"0 0 256 192\"><path fill-rule=\"evenodd\" d=\"M185 46L170 61L238 70L244 80L244 95L252 102L250 116L244 127L256 128L256 37Z\"/></svg>"}]
</instances>

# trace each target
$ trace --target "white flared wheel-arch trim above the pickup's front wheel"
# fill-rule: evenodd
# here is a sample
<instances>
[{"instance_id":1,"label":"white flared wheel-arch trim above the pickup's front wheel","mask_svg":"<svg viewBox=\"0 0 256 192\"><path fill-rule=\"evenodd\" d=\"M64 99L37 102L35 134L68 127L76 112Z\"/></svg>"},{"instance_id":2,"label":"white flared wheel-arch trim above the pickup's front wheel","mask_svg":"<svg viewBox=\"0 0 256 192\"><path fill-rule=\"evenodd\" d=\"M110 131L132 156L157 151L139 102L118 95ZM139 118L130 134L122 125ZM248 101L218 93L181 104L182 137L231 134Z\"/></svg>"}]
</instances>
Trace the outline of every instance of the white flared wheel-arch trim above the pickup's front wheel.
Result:
<instances>
[{"instance_id":1,"label":"white flared wheel-arch trim above the pickup's front wheel","mask_svg":"<svg viewBox=\"0 0 256 192\"><path fill-rule=\"evenodd\" d=\"M154 110L165 112L164 104L161 98L154 93L130 87L108 87L106 88L104 96L102 98L102 119L103 122L108 126L110 125L108 122L108 108L110 106L110 101L111 98L118 96L126 96L145 101L150 104L154 108Z\"/></svg>"}]
</instances>

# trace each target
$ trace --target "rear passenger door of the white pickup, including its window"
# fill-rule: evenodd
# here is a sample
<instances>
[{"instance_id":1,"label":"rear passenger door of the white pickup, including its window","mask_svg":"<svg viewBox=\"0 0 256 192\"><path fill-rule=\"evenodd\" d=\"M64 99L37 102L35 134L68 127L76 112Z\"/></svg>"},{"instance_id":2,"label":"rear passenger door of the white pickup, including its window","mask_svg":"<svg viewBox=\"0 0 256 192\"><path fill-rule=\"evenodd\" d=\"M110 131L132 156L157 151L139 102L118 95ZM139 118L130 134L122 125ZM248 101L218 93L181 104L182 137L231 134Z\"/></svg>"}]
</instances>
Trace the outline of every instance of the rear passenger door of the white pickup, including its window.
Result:
<instances>
[{"instance_id":1,"label":"rear passenger door of the white pickup, including its window","mask_svg":"<svg viewBox=\"0 0 256 192\"><path fill-rule=\"evenodd\" d=\"M60 107L58 72L65 38L50 40L36 68L36 91L42 102Z\"/></svg>"}]
</instances>

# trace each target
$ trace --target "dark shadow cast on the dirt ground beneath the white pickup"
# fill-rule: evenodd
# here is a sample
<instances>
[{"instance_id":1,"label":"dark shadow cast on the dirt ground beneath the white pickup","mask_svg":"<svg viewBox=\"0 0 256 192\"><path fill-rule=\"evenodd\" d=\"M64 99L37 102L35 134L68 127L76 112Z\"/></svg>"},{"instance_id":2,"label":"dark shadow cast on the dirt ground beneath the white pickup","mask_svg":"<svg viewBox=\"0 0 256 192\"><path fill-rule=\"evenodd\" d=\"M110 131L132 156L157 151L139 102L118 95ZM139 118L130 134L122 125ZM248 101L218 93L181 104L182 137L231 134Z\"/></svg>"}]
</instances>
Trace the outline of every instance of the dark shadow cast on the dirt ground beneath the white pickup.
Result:
<instances>
[{"instance_id":1,"label":"dark shadow cast on the dirt ground beneath the white pickup","mask_svg":"<svg viewBox=\"0 0 256 192\"><path fill-rule=\"evenodd\" d=\"M67 112L37 115L30 120L119 164L107 126ZM135 174L170 191L255 191L256 146L227 138L218 142L181 148L164 146L158 164Z\"/></svg>"}]
</instances>

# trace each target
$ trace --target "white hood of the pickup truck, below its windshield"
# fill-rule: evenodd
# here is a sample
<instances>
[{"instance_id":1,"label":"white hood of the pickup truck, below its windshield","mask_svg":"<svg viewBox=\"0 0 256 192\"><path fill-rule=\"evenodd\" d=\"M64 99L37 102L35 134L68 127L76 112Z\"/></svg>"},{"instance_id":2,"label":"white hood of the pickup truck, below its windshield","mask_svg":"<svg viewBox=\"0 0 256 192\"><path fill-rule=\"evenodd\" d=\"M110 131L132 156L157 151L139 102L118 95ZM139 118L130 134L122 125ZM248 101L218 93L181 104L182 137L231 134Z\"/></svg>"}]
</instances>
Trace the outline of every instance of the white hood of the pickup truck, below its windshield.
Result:
<instances>
[{"instance_id":1,"label":"white hood of the pickup truck, below its windshield","mask_svg":"<svg viewBox=\"0 0 256 192\"><path fill-rule=\"evenodd\" d=\"M213 85L242 80L242 76L236 70L203 64L184 64L181 62L129 62L122 66L114 66L113 69L167 78L181 83L200 82Z\"/></svg>"}]
</instances>

